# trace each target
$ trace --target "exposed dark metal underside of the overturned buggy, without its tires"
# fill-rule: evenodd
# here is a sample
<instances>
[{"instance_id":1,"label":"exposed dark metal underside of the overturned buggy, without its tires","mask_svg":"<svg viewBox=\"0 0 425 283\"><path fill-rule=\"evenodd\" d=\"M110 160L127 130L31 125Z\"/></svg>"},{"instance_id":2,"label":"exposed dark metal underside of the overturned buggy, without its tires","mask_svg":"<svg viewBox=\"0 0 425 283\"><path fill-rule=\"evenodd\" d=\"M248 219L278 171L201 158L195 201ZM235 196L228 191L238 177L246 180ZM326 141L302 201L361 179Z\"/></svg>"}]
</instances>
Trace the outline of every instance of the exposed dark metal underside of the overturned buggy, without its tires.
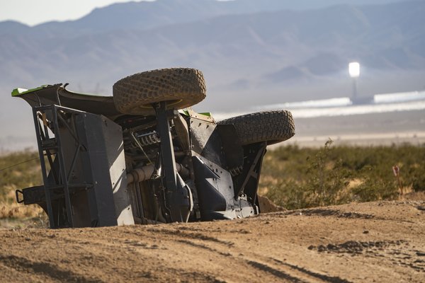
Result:
<instances>
[{"instance_id":1,"label":"exposed dark metal underside of the overturned buggy, without its tires","mask_svg":"<svg viewBox=\"0 0 425 283\"><path fill-rule=\"evenodd\" d=\"M51 228L259 214L266 142L242 146L233 125L165 101L152 117L102 115L67 107L75 104L62 98L72 95L55 85L22 96L33 108L44 185L16 190L16 199L39 204Z\"/></svg>"}]
</instances>

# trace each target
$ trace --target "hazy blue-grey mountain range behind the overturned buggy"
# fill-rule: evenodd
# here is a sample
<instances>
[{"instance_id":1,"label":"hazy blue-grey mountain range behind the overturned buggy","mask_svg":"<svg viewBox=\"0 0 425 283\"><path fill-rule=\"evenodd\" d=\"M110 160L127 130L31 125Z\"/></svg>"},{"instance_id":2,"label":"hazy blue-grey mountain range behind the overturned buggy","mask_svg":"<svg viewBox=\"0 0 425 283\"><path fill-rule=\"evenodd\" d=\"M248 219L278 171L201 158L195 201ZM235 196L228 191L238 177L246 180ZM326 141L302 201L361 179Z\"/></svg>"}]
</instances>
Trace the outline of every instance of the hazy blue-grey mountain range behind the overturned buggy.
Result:
<instances>
[{"instance_id":1,"label":"hazy blue-grey mountain range behind the overturned buggy","mask_svg":"<svg viewBox=\"0 0 425 283\"><path fill-rule=\"evenodd\" d=\"M349 96L351 61L361 63L361 95L419 90L424 14L425 1L157 0L34 27L4 21L0 118L28 121L28 106L9 95L18 86L69 82L112 95L118 79L168 67L204 72L199 110Z\"/></svg>"}]
</instances>

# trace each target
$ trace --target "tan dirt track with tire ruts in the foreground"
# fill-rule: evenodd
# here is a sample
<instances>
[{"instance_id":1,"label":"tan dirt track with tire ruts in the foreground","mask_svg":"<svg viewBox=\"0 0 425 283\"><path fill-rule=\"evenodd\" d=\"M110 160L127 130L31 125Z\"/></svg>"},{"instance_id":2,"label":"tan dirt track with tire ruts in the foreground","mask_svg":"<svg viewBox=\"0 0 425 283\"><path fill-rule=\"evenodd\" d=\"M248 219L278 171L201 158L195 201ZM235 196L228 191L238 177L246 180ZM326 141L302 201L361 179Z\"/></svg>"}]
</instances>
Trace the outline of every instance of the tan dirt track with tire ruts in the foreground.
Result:
<instances>
[{"instance_id":1,"label":"tan dirt track with tire ruts in the foreground","mask_svg":"<svg viewBox=\"0 0 425 283\"><path fill-rule=\"evenodd\" d=\"M425 282L425 202L98 229L1 229L0 282Z\"/></svg>"}]
</instances>

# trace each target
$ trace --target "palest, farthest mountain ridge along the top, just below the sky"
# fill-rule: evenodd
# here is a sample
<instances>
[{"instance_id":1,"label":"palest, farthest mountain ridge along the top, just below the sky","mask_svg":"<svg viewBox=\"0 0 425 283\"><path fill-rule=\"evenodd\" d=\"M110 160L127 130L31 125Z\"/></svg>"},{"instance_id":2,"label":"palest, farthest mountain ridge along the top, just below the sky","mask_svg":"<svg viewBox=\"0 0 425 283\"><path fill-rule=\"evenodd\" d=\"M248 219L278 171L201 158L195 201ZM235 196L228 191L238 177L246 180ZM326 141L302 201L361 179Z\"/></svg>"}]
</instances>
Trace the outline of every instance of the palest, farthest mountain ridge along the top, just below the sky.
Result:
<instances>
[{"instance_id":1,"label":"palest, farthest mountain ridge along the top, just below the sky","mask_svg":"<svg viewBox=\"0 0 425 283\"><path fill-rule=\"evenodd\" d=\"M32 33L77 34L99 33L122 28L149 29L175 23L190 23L216 16L258 13L263 11L307 10L324 8L336 4L388 4L396 0L156 0L111 4L95 8L87 16L75 21L47 22L30 28L18 22L0 22L0 33L4 30ZM398 0L403 1L403 0ZM404 0L407 1L407 0ZM119 20L119 21L115 21Z\"/></svg>"}]
</instances>

